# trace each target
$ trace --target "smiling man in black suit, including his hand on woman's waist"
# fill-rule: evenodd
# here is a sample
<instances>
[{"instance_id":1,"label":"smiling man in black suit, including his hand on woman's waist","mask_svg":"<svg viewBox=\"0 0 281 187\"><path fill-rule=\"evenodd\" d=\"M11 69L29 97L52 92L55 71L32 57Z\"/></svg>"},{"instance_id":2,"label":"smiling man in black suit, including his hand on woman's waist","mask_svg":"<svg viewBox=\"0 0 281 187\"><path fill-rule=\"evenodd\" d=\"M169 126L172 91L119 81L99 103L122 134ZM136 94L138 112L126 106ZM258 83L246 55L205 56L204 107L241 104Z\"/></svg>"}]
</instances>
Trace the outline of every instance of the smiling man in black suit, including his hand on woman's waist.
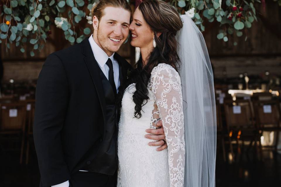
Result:
<instances>
[{"instance_id":1,"label":"smiling man in black suit, including his hand on woman's waist","mask_svg":"<svg viewBox=\"0 0 281 187\"><path fill-rule=\"evenodd\" d=\"M92 15L93 34L50 54L38 78L34 142L40 186L116 186L115 98L131 66L115 52L128 37L131 8L126 0L101 0ZM148 132L160 140L150 145L166 148L163 129Z\"/></svg>"}]
</instances>

